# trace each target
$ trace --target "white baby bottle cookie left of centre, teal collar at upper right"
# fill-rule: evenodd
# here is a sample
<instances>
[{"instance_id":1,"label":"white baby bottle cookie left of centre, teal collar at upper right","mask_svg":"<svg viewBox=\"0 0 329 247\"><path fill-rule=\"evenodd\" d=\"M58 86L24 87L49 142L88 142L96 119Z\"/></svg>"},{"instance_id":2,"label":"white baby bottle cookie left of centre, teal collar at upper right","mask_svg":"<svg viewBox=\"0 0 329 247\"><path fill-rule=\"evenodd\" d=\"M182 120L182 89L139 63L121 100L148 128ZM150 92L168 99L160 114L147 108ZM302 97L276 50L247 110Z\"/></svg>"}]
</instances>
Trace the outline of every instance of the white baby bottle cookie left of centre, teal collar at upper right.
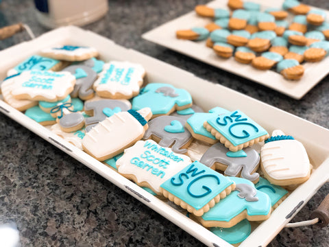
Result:
<instances>
[{"instance_id":1,"label":"white baby bottle cookie left of centre, teal collar at upper right","mask_svg":"<svg viewBox=\"0 0 329 247\"><path fill-rule=\"evenodd\" d=\"M112 158L142 139L151 114L150 108L114 113L86 133L82 148L99 161Z\"/></svg>"}]
</instances>

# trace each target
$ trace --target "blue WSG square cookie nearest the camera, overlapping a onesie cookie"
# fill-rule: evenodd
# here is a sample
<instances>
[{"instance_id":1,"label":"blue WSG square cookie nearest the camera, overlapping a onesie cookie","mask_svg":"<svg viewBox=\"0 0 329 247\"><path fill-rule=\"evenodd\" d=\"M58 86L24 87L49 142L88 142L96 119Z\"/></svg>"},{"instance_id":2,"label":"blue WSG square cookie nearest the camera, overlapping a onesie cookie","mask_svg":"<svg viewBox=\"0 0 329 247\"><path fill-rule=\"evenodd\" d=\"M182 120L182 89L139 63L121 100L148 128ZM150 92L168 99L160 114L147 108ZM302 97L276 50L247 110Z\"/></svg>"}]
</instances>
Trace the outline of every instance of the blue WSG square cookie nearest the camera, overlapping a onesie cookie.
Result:
<instances>
[{"instance_id":1,"label":"blue WSG square cookie nearest the camera, overlapping a onesie cookie","mask_svg":"<svg viewBox=\"0 0 329 247\"><path fill-rule=\"evenodd\" d=\"M197 216L209 211L234 188L232 180L198 161L160 185L163 196Z\"/></svg>"}]
</instances>

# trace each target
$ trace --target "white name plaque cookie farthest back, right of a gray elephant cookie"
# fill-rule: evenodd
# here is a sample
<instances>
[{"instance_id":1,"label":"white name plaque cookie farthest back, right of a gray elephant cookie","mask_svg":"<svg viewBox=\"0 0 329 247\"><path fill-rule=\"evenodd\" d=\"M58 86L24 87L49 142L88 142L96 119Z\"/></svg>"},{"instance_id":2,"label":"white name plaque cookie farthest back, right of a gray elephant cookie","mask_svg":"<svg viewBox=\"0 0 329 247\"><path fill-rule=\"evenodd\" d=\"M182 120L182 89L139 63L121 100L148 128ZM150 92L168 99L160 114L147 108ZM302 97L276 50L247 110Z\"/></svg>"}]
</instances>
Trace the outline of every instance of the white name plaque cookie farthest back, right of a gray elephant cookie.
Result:
<instances>
[{"instance_id":1,"label":"white name plaque cookie farthest back, right of a gray elephant cookie","mask_svg":"<svg viewBox=\"0 0 329 247\"><path fill-rule=\"evenodd\" d=\"M131 99L138 95L145 69L141 64L113 61L104 64L94 83L97 95L110 99Z\"/></svg>"}]
</instances>

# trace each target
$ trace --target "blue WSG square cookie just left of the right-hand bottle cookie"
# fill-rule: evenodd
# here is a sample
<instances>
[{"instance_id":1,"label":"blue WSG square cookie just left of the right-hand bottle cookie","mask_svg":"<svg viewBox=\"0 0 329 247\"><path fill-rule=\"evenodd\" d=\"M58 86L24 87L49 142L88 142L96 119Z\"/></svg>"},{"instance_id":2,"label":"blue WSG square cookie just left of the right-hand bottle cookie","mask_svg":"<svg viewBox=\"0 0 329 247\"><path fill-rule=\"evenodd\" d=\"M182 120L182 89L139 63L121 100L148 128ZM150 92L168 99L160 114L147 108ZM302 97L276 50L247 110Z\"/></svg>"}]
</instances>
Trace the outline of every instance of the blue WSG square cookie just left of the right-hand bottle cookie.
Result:
<instances>
[{"instance_id":1,"label":"blue WSG square cookie just left of the right-hand bottle cookie","mask_svg":"<svg viewBox=\"0 0 329 247\"><path fill-rule=\"evenodd\" d=\"M241 110L210 117L204 122L204 127L232 152L247 148L269 137L263 127Z\"/></svg>"}]
</instances>

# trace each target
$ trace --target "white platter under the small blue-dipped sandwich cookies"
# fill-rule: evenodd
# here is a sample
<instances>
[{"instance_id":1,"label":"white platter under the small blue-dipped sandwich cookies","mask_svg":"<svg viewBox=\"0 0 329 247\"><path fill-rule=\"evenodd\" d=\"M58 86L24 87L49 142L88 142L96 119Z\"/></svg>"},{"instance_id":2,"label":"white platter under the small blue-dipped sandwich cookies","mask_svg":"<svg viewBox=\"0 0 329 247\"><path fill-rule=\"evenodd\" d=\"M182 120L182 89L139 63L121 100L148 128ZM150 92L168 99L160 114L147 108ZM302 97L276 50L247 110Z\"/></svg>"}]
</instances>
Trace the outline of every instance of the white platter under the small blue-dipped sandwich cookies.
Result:
<instances>
[{"instance_id":1,"label":"white platter under the small blue-dipped sandwich cookies","mask_svg":"<svg viewBox=\"0 0 329 247\"><path fill-rule=\"evenodd\" d=\"M262 5L261 10L265 10L269 7L281 8L284 0L251 1L260 3ZM207 5L212 8L228 9L227 0L211 1ZM327 16L329 16L329 11L324 11ZM197 16L193 10L188 14L184 14L177 19L156 27L154 30L146 32L142 37L158 45L178 51L186 56L206 62L207 64L219 69L229 71L230 73L240 75L243 78L268 86L269 88L284 93L294 99L301 99L308 91L310 91L310 89L313 88L313 86L319 83L329 73L329 57L321 62L306 62L304 64L305 73L302 79L294 82L284 79L282 75L275 71L260 71L252 67L250 64L236 62L233 57L229 59L219 58L212 49L206 47L206 41L195 42L191 40L180 40L175 36L177 30L187 30L192 27L204 27L210 22L211 20L209 18Z\"/></svg>"}]
</instances>

